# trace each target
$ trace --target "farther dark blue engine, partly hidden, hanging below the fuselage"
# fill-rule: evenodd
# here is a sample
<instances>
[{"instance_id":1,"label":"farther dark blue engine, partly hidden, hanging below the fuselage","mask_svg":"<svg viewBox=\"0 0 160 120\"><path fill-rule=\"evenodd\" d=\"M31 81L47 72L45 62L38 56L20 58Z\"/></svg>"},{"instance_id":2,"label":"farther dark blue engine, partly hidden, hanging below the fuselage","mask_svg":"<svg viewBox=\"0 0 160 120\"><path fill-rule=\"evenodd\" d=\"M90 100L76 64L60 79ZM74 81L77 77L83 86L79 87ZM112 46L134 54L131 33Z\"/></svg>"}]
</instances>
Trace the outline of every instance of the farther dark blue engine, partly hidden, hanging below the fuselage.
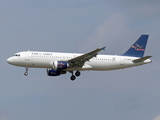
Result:
<instances>
[{"instance_id":1,"label":"farther dark blue engine, partly hidden, hanging below the fuselage","mask_svg":"<svg viewBox=\"0 0 160 120\"><path fill-rule=\"evenodd\" d=\"M47 69L48 76L59 76L61 74L66 74L66 71Z\"/></svg>"}]
</instances>

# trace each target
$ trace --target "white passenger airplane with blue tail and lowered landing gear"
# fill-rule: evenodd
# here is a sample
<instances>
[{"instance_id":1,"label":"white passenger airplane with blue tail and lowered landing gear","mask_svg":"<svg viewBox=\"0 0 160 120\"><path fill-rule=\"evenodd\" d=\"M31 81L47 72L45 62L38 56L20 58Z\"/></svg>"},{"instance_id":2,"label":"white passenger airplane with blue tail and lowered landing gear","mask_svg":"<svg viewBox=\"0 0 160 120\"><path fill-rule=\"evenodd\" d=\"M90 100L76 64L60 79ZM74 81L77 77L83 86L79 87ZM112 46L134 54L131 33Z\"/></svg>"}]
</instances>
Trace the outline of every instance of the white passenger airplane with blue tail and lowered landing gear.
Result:
<instances>
[{"instance_id":1,"label":"white passenger airplane with blue tail and lowered landing gear","mask_svg":"<svg viewBox=\"0 0 160 120\"><path fill-rule=\"evenodd\" d=\"M100 55L106 47L97 48L86 54L24 51L14 54L7 62L14 66L28 68L46 68L48 76L60 76L70 72L70 79L74 81L81 75L80 71L95 70L108 71L139 66L152 61L152 56L143 56L149 35L141 35L139 39L122 55ZM75 71L75 74L74 74Z\"/></svg>"}]
</instances>

